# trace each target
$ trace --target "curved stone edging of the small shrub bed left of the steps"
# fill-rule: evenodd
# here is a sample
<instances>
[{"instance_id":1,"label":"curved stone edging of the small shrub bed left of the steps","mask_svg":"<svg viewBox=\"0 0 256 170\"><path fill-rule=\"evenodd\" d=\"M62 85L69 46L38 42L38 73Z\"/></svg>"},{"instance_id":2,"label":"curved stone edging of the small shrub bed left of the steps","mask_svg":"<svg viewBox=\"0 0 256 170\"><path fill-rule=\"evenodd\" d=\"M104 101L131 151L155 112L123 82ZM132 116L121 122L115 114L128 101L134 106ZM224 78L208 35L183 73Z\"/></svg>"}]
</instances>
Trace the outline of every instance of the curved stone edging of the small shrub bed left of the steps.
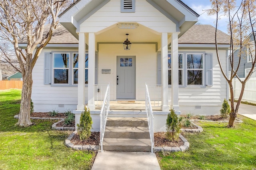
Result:
<instances>
[{"instance_id":1,"label":"curved stone edging of the small shrub bed left of the steps","mask_svg":"<svg viewBox=\"0 0 256 170\"><path fill-rule=\"evenodd\" d=\"M97 146L97 145L74 145L73 143L71 143L70 141L76 133L77 133L77 131L74 131L65 140L65 145L67 147L72 148L72 149L76 149L76 150L98 150L99 149L99 146Z\"/></svg>"}]
</instances>

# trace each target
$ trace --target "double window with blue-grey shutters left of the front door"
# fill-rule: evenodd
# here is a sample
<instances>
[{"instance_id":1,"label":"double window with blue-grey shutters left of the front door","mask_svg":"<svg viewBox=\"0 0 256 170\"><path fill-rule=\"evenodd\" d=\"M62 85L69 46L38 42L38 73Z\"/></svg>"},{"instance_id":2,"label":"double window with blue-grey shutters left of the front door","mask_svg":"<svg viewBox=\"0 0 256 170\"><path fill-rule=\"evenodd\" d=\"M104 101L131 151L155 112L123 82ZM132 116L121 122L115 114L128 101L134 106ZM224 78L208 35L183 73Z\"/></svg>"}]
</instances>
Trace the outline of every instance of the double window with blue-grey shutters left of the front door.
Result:
<instances>
[{"instance_id":1,"label":"double window with blue-grey shutters left of the front door","mask_svg":"<svg viewBox=\"0 0 256 170\"><path fill-rule=\"evenodd\" d=\"M77 86L78 53L54 51L44 53L44 84L51 86ZM85 84L88 84L88 53L85 54ZM95 84L98 82L98 54L95 54Z\"/></svg>"}]
</instances>

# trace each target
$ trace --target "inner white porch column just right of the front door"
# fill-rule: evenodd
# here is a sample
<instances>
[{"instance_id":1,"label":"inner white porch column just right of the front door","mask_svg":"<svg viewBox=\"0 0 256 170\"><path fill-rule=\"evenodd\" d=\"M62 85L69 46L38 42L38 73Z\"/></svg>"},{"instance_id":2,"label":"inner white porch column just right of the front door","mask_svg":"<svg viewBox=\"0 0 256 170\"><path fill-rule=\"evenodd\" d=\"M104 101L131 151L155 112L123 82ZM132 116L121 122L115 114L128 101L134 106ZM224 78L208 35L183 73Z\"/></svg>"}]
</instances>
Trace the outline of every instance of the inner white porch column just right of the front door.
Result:
<instances>
[{"instance_id":1,"label":"inner white porch column just right of the front door","mask_svg":"<svg viewBox=\"0 0 256 170\"><path fill-rule=\"evenodd\" d=\"M168 34L162 33L162 111L169 111L168 106Z\"/></svg>"}]
</instances>

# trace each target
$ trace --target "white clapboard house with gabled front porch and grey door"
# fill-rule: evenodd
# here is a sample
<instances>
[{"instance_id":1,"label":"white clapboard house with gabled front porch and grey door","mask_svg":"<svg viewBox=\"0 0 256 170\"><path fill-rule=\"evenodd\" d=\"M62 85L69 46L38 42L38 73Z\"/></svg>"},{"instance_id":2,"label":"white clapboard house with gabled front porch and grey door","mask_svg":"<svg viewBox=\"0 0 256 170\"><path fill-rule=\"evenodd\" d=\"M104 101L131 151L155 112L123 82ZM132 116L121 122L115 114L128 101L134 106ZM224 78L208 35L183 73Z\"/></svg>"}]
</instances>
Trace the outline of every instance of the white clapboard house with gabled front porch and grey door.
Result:
<instances>
[{"instance_id":1,"label":"white clapboard house with gabled front porch and grey door","mask_svg":"<svg viewBox=\"0 0 256 170\"><path fill-rule=\"evenodd\" d=\"M227 83L216 58L215 28L194 25L199 15L180 0L125 2L78 0L59 16L65 28L54 33L33 69L35 111L71 109L77 124L87 106L93 130L99 131L97 100L107 84L110 101L142 103L148 84L150 97L160 103L154 110L155 131L165 129L170 108L177 114L218 114ZM130 50L123 47L127 33ZM230 37L221 31L218 36L219 55L228 69ZM26 41L19 46L26 48ZM141 108L125 108L127 103L120 102L109 116L146 114Z\"/></svg>"}]
</instances>

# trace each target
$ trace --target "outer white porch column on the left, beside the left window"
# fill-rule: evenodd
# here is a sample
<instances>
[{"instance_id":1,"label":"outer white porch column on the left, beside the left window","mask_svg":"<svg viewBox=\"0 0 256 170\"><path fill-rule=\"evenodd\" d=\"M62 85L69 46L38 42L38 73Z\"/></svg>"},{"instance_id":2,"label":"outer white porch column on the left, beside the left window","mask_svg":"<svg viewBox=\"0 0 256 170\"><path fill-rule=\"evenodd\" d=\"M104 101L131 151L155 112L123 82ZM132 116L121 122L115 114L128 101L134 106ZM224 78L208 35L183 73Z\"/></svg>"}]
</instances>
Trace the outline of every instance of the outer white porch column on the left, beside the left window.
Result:
<instances>
[{"instance_id":1,"label":"outer white porch column on the left, beside the left window","mask_svg":"<svg viewBox=\"0 0 256 170\"><path fill-rule=\"evenodd\" d=\"M79 45L78 45L78 101L77 101L77 110L84 110L84 77L85 77L85 34L79 33Z\"/></svg>"}]
</instances>

